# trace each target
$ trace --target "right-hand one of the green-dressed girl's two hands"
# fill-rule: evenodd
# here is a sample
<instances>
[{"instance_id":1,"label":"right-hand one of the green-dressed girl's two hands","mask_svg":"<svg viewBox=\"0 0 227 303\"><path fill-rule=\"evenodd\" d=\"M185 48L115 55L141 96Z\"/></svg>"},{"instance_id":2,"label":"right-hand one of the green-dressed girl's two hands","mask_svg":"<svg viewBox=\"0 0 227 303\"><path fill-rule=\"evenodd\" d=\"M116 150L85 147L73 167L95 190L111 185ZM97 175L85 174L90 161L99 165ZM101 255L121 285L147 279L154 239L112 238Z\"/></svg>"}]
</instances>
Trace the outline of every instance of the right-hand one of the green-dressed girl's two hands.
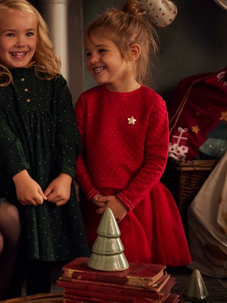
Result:
<instances>
[{"instance_id":1,"label":"right-hand one of the green-dressed girl's two hands","mask_svg":"<svg viewBox=\"0 0 227 303\"><path fill-rule=\"evenodd\" d=\"M67 174L60 174L54 179L44 191L49 202L61 206L69 201L71 192L72 177Z\"/></svg>"}]
</instances>

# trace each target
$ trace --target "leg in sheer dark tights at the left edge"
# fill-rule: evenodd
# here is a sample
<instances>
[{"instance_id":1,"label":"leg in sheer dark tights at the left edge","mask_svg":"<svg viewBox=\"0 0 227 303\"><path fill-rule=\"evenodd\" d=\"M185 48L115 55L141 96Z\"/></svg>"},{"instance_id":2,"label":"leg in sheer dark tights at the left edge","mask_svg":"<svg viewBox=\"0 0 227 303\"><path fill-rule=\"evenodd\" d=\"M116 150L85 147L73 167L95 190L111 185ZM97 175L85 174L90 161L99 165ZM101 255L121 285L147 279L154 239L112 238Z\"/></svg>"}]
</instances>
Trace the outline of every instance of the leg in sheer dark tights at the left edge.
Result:
<instances>
[{"instance_id":1,"label":"leg in sheer dark tights at the left edge","mask_svg":"<svg viewBox=\"0 0 227 303\"><path fill-rule=\"evenodd\" d=\"M17 208L4 201L0 204L0 300L4 298L12 276L20 238Z\"/></svg>"}]
</instances>

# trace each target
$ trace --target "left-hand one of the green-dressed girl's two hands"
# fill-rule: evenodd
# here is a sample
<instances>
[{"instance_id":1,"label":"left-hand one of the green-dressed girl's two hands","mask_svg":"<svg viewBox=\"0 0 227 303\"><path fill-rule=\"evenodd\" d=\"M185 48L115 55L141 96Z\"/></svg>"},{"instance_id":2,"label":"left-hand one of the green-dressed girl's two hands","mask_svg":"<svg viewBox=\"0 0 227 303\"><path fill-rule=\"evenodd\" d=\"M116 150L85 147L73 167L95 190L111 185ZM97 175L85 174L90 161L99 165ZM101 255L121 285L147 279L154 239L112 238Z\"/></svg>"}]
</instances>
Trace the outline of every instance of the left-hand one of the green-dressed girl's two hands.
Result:
<instances>
[{"instance_id":1,"label":"left-hand one of the green-dressed girl's two hands","mask_svg":"<svg viewBox=\"0 0 227 303\"><path fill-rule=\"evenodd\" d=\"M38 205L47 200L41 187L23 170L12 177L16 188L16 196L22 205Z\"/></svg>"}]
</instances>

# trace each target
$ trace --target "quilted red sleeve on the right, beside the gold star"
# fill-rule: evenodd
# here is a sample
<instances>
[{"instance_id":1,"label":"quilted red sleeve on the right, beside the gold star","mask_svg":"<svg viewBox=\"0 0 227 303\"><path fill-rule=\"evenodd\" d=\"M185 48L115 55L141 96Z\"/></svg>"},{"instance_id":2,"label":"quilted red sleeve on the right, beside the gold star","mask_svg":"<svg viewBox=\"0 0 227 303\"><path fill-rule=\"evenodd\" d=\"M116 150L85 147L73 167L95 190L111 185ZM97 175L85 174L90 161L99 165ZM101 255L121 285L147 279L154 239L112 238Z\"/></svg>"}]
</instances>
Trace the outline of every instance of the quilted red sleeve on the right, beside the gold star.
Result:
<instances>
[{"instance_id":1,"label":"quilted red sleeve on the right, beside the gold star","mask_svg":"<svg viewBox=\"0 0 227 303\"><path fill-rule=\"evenodd\" d=\"M117 198L133 209L159 182L168 151L168 117L165 102L157 101L151 110L145 142L145 160L141 169Z\"/></svg>"}]
</instances>

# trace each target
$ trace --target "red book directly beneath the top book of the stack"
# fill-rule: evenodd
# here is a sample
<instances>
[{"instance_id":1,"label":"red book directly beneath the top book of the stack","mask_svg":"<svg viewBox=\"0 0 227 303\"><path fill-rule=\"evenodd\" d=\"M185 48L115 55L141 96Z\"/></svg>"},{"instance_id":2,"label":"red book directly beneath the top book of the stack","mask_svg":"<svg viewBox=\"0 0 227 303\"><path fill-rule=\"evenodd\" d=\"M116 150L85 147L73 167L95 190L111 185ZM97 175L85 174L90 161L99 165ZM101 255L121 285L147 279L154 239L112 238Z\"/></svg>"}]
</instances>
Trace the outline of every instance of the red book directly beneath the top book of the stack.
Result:
<instances>
[{"instance_id":1,"label":"red book directly beneath the top book of the stack","mask_svg":"<svg viewBox=\"0 0 227 303\"><path fill-rule=\"evenodd\" d=\"M170 293L174 284L174 278L170 277L165 286L159 293L150 292L147 290L128 290L124 288L102 287L98 285L91 285L86 283L71 283L58 280L58 287L64 288L64 294L79 295L88 298L99 298L110 301L135 303L134 298L137 299L152 299L153 301L165 300Z\"/></svg>"}]
</instances>

